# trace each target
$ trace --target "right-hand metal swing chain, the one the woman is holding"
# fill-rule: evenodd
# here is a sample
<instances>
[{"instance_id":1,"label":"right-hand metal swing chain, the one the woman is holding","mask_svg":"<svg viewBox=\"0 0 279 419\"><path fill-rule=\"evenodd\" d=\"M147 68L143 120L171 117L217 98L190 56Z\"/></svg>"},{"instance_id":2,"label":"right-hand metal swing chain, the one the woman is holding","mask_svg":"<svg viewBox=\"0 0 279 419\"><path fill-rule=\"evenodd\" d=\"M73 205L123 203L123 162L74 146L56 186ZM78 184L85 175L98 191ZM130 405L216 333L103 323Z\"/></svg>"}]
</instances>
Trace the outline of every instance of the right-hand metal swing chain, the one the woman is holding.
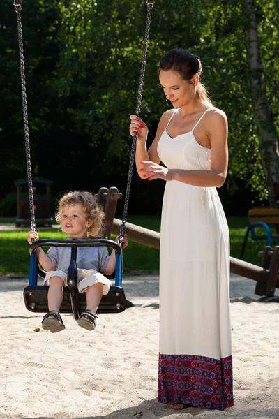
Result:
<instances>
[{"instance_id":1,"label":"right-hand metal swing chain, the one the woman is holding","mask_svg":"<svg viewBox=\"0 0 279 419\"><path fill-rule=\"evenodd\" d=\"M145 30L145 36L144 36L142 68L140 71L140 84L139 84L139 89L137 92L137 106L136 106L136 111L135 111L138 117L140 116L140 106L142 104L142 91L144 88L144 73L145 73L145 67L146 67L147 46L148 46L148 41L149 41L149 31L150 31L150 24L151 24L151 10L154 6L154 3L155 1L146 0L146 7L147 7L146 30ZM137 133L135 132L133 136L131 152L130 152L130 164L129 164L129 171L128 171L122 223L120 226L120 233L119 233L119 243L121 243L121 240L123 239L123 236L125 234L127 214L128 214L128 203L129 203L129 198L130 198L130 187L132 184L133 168L134 168L134 161L135 161L136 142L137 142Z\"/></svg>"}]
</instances>

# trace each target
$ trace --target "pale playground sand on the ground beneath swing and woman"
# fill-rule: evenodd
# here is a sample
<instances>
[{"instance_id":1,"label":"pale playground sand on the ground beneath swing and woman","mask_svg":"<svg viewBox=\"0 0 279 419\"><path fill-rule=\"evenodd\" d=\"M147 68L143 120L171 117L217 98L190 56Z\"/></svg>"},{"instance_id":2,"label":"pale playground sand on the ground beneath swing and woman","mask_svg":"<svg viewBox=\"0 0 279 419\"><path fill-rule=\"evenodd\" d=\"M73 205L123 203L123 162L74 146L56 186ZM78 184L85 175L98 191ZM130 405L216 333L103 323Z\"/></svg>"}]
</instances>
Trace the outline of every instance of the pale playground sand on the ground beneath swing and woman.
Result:
<instances>
[{"instance_id":1,"label":"pale playground sand on the ground beneath swing and woman","mask_svg":"<svg viewBox=\"0 0 279 419\"><path fill-rule=\"evenodd\" d=\"M94 332L64 315L57 334L25 309L27 279L1 278L0 418L278 419L279 304L257 302L253 281L231 283L235 406L176 412L156 401L158 277L124 277L134 307L100 315Z\"/></svg>"}]
</instances>

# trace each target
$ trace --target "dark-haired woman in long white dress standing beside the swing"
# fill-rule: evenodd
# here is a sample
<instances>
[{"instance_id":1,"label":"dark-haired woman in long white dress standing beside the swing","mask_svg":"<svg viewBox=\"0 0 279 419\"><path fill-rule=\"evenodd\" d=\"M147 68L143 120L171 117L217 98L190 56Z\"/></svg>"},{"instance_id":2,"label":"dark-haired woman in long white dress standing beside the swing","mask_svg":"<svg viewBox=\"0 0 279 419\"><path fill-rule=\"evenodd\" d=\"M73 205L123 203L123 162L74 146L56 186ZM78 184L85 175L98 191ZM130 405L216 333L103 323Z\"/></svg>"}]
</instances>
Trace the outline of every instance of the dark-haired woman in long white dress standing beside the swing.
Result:
<instances>
[{"instance_id":1,"label":"dark-haired woman in long white dress standing beside the swing","mask_svg":"<svg viewBox=\"0 0 279 419\"><path fill-rule=\"evenodd\" d=\"M229 231L216 191L227 175L227 117L209 100L201 72L187 50L163 55L159 79L173 109L163 113L148 150L148 128L136 115L130 115L130 135L137 132L140 177L166 182L158 401L172 409L223 410L234 404Z\"/></svg>"}]
</instances>

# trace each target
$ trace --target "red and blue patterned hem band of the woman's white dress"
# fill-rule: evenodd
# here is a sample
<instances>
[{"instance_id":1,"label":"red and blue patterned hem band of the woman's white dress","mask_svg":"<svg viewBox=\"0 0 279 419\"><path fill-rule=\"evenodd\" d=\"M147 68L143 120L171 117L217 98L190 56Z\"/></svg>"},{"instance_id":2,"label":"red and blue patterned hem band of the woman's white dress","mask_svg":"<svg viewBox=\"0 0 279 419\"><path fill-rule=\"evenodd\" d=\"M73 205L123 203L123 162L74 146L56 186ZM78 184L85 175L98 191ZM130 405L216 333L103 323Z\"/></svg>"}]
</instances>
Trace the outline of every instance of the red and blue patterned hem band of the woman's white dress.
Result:
<instances>
[{"instance_id":1,"label":"red and blue patterned hem band of the woman's white dress","mask_svg":"<svg viewBox=\"0 0 279 419\"><path fill-rule=\"evenodd\" d=\"M158 402L216 410L232 407L232 355L218 360L160 353Z\"/></svg>"}]
</instances>

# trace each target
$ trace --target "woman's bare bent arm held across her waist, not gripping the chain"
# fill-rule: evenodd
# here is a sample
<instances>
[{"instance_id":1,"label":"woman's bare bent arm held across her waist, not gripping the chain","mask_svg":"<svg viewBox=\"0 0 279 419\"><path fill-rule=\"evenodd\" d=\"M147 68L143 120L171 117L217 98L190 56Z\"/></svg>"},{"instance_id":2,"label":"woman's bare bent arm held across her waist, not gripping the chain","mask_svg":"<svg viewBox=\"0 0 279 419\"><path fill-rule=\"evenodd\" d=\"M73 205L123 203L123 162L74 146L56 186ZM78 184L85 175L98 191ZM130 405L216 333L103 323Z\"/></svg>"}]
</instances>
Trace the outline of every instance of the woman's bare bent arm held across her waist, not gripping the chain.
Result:
<instances>
[{"instance_id":1,"label":"woman's bare bent arm held across her waist, not gripping the chain","mask_svg":"<svg viewBox=\"0 0 279 419\"><path fill-rule=\"evenodd\" d=\"M176 180L193 186L220 187L227 176L227 117L221 110L211 113L209 128L206 130L211 143L210 170L167 169L154 164L152 161L142 161L147 179Z\"/></svg>"}]
</instances>

